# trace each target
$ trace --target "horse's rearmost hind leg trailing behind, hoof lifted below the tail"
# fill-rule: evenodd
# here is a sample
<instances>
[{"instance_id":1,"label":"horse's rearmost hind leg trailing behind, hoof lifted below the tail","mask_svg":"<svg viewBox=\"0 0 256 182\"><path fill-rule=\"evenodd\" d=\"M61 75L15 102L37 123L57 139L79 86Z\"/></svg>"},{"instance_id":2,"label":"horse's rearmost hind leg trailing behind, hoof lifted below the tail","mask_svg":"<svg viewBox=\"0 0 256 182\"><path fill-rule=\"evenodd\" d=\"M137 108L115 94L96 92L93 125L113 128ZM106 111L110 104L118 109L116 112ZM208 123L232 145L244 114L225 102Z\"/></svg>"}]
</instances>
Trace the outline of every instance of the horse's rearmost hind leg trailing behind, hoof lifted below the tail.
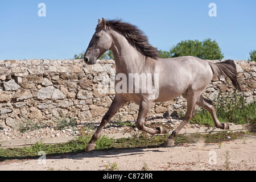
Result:
<instances>
[{"instance_id":1,"label":"horse's rearmost hind leg trailing behind, hoof lifted below the tail","mask_svg":"<svg viewBox=\"0 0 256 182\"><path fill-rule=\"evenodd\" d=\"M198 98L197 105L204 107L204 109L208 110L210 115L212 115L213 121L214 121L214 125L219 128L219 129L223 129L223 130L229 130L229 125L227 123L220 123L217 119L216 116L216 111L214 110L212 101L207 100L206 98L204 98L202 95Z\"/></svg>"}]
</instances>

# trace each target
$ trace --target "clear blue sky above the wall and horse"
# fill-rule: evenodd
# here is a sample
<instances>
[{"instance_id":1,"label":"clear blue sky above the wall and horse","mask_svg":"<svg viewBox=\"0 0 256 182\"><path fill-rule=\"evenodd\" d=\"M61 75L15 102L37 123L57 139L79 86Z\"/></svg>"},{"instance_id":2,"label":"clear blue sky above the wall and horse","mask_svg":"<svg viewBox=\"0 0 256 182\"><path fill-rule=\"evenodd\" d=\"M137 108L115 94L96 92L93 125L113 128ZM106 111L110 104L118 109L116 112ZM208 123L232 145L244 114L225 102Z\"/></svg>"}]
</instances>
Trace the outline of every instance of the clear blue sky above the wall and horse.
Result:
<instances>
[{"instance_id":1,"label":"clear blue sky above the wall and horse","mask_svg":"<svg viewBox=\"0 0 256 182\"><path fill-rule=\"evenodd\" d=\"M46 16L39 17L39 3ZM209 3L217 16L210 17ZM224 59L256 49L255 0L1 0L0 60L72 59L85 51L98 18L137 25L152 46L169 51L181 40L216 40Z\"/></svg>"}]
</instances>

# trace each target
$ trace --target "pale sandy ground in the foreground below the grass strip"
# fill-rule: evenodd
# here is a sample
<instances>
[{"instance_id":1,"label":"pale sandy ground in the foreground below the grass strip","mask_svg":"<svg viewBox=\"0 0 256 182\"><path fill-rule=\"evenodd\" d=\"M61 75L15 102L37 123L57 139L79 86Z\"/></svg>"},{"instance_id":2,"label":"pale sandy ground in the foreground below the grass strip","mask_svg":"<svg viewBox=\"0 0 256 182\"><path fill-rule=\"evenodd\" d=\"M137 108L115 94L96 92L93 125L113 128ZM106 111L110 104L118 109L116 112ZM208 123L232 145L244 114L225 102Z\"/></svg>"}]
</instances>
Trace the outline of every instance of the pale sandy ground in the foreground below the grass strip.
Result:
<instances>
[{"instance_id":1,"label":"pale sandy ground in the foreground below the grass strip","mask_svg":"<svg viewBox=\"0 0 256 182\"><path fill-rule=\"evenodd\" d=\"M228 156L227 156L228 151ZM256 137L220 144L183 144L171 148L134 148L92 151L76 155L44 156L39 159L7 160L0 170L246 170L256 169Z\"/></svg>"}]
</instances>

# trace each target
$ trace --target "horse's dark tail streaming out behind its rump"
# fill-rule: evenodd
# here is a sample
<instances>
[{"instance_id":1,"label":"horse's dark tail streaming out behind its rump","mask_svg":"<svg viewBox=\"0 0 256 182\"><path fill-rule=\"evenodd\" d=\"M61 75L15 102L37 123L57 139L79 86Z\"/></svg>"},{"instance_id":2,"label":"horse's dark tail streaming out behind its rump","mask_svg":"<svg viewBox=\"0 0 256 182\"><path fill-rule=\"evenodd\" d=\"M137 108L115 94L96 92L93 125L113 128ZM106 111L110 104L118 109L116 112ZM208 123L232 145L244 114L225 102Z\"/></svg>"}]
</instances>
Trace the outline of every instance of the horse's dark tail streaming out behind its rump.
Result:
<instances>
[{"instance_id":1,"label":"horse's dark tail streaming out behind its rump","mask_svg":"<svg viewBox=\"0 0 256 182\"><path fill-rule=\"evenodd\" d=\"M233 85L236 89L241 90L240 84L237 81L237 68L236 64L233 60L226 60L220 63L209 63L210 68L212 68L212 72L214 76L217 76L218 78L221 75L228 76L230 80L232 81Z\"/></svg>"}]
</instances>

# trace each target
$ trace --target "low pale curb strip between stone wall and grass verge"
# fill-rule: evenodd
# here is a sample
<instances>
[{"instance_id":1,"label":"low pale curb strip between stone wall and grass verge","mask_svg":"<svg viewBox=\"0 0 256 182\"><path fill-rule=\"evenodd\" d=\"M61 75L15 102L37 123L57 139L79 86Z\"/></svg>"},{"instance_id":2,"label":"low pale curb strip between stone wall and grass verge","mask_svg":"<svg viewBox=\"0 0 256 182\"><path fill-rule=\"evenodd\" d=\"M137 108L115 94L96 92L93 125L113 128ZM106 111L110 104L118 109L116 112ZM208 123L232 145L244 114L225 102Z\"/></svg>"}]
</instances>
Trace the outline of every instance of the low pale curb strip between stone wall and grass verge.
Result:
<instances>
[{"instance_id":1,"label":"low pale curb strip between stone wall and grass verge","mask_svg":"<svg viewBox=\"0 0 256 182\"><path fill-rule=\"evenodd\" d=\"M181 129L179 134L208 134L208 133L217 133L223 131L247 131L249 126L245 125L231 125L230 130L221 130L216 127L200 127L200 128L189 128L189 129ZM168 134L171 134L172 131L169 131ZM116 133L116 134L107 134L106 137L109 138L132 138L134 135L140 134L141 131L133 132L133 133ZM55 143L65 143L74 139L75 137L58 137L58 138L30 138L30 139L21 139L21 140L6 140L0 141L0 148L18 148L30 146L31 144L35 144L37 142L42 142L46 144L55 144Z\"/></svg>"}]
</instances>

